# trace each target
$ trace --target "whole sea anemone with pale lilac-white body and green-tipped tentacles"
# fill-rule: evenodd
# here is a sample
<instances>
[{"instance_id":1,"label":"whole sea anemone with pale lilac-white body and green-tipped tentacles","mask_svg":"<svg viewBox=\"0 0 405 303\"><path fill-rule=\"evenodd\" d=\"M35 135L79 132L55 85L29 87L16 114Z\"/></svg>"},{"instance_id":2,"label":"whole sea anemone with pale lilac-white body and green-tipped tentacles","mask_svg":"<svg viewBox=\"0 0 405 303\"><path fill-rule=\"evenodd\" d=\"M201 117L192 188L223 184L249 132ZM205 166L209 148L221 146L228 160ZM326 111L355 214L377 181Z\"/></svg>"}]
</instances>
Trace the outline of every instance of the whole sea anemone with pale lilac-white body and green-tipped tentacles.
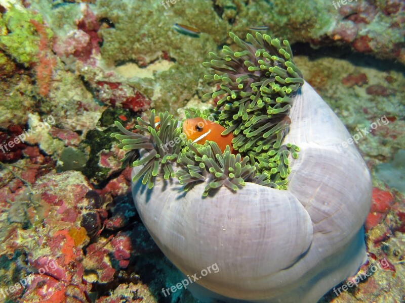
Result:
<instances>
[{"instance_id":1,"label":"whole sea anemone with pale lilac-white body and green-tipped tentacles","mask_svg":"<svg viewBox=\"0 0 405 303\"><path fill-rule=\"evenodd\" d=\"M138 120L145 135L120 127L135 206L184 275L218 266L188 285L201 301L316 302L367 259L370 174L343 144L351 136L342 122L302 80L287 41L231 37L241 52L224 47L206 66L222 73L208 76L223 81L211 93L223 94L214 116L239 154L215 142L171 144L181 125L167 113L158 130L154 112ZM173 145L169 156L161 144Z\"/></svg>"}]
</instances>

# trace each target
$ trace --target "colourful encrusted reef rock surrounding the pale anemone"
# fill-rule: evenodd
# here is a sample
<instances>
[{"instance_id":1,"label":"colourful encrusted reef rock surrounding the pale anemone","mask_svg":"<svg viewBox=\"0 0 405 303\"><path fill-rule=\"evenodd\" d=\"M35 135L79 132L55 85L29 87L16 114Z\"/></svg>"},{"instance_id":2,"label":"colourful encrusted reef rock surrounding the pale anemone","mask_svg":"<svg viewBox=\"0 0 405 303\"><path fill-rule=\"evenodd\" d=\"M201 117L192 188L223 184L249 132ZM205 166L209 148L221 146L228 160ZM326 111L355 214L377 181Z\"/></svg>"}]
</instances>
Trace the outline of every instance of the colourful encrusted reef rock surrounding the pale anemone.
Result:
<instances>
[{"instance_id":1,"label":"colourful encrusted reef rock surrounding the pale anemone","mask_svg":"<svg viewBox=\"0 0 405 303\"><path fill-rule=\"evenodd\" d=\"M253 27L289 39L349 132L367 130L369 276L319 302L405 302L405 2L0 0L0 13L0 302L197 302L161 292L182 276L110 134L151 109L212 106L202 63Z\"/></svg>"}]
</instances>

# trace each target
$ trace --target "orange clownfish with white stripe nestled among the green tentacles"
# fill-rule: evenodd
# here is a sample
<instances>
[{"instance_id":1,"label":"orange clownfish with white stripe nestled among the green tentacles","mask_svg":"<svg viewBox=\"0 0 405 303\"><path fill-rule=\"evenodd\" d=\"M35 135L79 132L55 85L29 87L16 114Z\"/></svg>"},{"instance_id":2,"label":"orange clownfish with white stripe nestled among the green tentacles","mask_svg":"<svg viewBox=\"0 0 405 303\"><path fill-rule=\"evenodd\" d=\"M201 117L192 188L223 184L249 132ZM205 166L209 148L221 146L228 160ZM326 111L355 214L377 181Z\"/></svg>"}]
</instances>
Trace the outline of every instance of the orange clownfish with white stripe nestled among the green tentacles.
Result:
<instances>
[{"instance_id":1,"label":"orange clownfish with white stripe nestled among the green tentacles","mask_svg":"<svg viewBox=\"0 0 405 303\"><path fill-rule=\"evenodd\" d=\"M232 133L225 136L221 135L224 130L225 127L222 125L203 118L191 118L183 122L183 133L193 143L204 144L206 141L215 141L222 152L224 152L226 145L229 145L231 153L236 154L232 147L233 135Z\"/></svg>"}]
</instances>

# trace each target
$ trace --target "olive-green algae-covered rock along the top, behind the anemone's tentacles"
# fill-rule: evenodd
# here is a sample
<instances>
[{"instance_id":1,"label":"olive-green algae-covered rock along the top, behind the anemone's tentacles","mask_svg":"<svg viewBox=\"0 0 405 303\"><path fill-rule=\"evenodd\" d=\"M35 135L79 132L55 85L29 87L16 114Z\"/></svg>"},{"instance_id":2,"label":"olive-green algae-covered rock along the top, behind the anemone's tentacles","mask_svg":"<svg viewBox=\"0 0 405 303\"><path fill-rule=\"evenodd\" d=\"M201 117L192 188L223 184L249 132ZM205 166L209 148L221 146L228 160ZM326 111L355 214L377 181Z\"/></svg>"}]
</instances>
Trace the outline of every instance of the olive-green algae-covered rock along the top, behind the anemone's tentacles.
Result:
<instances>
[{"instance_id":1,"label":"olive-green algae-covered rock along the top, behind the anemone's tentacles","mask_svg":"<svg viewBox=\"0 0 405 303\"><path fill-rule=\"evenodd\" d=\"M252 25L269 25L269 33L294 42L324 34L335 13L332 5L326 8L320 0L299 6L288 1L280 5L270 2L247 5L243 1L229 0L179 1L167 9L160 2L101 0L96 6L99 16L111 20L115 26L100 30L103 37L100 51L107 63L135 61L142 66L159 57L156 50L165 51L175 63L170 70L156 74L158 82L136 81L137 88L153 100L157 111L172 113L192 98L195 87L209 89L207 83L201 81L205 70L200 64L217 45L231 42L227 37L231 29L237 35L245 35ZM178 33L173 28L175 23L195 27L201 34L194 38Z\"/></svg>"}]
</instances>

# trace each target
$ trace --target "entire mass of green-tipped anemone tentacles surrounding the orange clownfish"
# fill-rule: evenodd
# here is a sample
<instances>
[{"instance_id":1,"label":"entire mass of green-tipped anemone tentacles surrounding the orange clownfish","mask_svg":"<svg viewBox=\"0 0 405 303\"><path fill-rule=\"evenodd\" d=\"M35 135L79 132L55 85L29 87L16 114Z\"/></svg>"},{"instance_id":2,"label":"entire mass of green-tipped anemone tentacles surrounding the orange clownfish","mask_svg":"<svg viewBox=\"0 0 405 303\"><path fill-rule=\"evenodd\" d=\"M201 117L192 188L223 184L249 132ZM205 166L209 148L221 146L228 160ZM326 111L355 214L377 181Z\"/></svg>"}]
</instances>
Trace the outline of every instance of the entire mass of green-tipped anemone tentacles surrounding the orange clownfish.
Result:
<instances>
[{"instance_id":1,"label":"entire mass of green-tipped anemone tentacles surrounding the orange clownfish","mask_svg":"<svg viewBox=\"0 0 405 303\"><path fill-rule=\"evenodd\" d=\"M229 35L242 51L223 46L220 56L210 53L212 60L204 63L218 72L205 78L221 83L218 91L205 95L222 96L214 110L191 110L180 123L168 112L156 115L152 110L149 121L138 118L135 126L144 134L115 122L121 133L111 136L120 140L119 148L128 150L121 160L123 167L143 166L134 181L142 177L142 183L152 188L157 175L166 180L177 177L187 190L208 179L204 196L222 185L235 191L245 182L287 189L289 157L297 158L299 147L282 141L289 131L293 97L304 83L302 74L293 63L287 40L281 45L278 39L256 33L256 38L248 34L245 42ZM199 144L205 134L196 139L183 132L187 129L183 125L195 124L191 122L196 118L208 126L217 123L224 130L217 139L207 137ZM197 132L201 126L195 125ZM229 141L228 135L233 136L232 146L221 148L223 140Z\"/></svg>"}]
</instances>

